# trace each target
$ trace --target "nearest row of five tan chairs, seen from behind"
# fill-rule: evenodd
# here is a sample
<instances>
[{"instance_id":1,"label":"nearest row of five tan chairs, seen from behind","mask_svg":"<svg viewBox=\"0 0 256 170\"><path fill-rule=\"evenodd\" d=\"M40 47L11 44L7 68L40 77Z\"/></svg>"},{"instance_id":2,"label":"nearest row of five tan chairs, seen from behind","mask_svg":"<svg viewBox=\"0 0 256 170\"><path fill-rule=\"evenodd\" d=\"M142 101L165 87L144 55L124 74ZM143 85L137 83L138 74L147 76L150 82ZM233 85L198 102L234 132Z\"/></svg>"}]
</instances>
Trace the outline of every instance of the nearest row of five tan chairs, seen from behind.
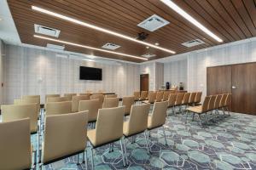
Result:
<instances>
[{"instance_id":1,"label":"nearest row of five tan chairs, seen from behind","mask_svg":"<svg viewBox=\"0 0 256 170\"><path fill-rule=\"evenodd\" d=\"M34 110L37 112L37 104L31 105L34 105ZM153 112L150 116L148 116L149 104L132 105L129 120L126 122L123 121L125 106L99 109L96 118L96 128L89 130L87 133L87 138L92 146L92 167L94 166L93 149L105 144L111 144L118 140L121 141L120 144L125 166L128 161L125 144L125 156L123 152L123 138L131 137L137 133L145 133L145 139L148 141L146 131L156 127L162 127L165 124L167 105L167 102L154 103ZM26 107L26 105L18 106L20 106L20 108ZM5 107L7 106L4 106L3 109ZM49 108L46 107L46 111L48 109ZM4 115L5 112L6 110L4 110ZM86 153L84 150L87 139L87 130L84 127L86 127L87 122L89 122L88 112L89 111L79 111L76 113L60 113L60 115L45 116L43 154L39 154L39 159L43 165L53 161L59 161L68 156L79 156L80 153L83 153L84 156L84 153ZM30 128L32 116L22 117L20 116L20 112L16 112L15 116L12 121L0 123L0 136L3 137L0 139L0 147L1 150L3 150L3 152L0 153L0 155L3 154L0 156L3 158L0 159L0 165L3 169L25 169L29 168L32 164L31 150L33 147L30 144L30 133L34 132L34 130ZM9 142L9 140L12 142ZM16 144L14 147L15 141L20 144ZM15 156L6 156L6 153L12 153L9 150L15 150ZM85 163L87 164L87 161Z\"/></svg>"}]
</instances>

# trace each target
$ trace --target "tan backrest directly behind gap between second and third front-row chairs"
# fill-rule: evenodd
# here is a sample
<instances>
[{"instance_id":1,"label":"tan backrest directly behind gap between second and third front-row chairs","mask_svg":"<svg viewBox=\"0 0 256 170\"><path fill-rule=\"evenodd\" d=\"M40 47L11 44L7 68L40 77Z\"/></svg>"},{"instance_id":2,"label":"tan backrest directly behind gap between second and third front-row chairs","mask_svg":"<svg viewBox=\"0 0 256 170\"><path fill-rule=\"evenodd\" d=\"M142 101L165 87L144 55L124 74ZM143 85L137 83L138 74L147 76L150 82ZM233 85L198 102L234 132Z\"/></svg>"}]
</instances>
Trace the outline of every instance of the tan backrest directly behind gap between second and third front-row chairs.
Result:
<instances>
[{"instance_id":1,"label":"tan backrest directly behind gap between second and third front-row chairs","mask_svg":"<svg viewBox=\"0 0 256 170\"><path fill-rule=\"evenodd\" d=\"M99 99L80 100L79 111L88 111L88 122L96 121L99 109Z\"/></svg>"}]
</instances>

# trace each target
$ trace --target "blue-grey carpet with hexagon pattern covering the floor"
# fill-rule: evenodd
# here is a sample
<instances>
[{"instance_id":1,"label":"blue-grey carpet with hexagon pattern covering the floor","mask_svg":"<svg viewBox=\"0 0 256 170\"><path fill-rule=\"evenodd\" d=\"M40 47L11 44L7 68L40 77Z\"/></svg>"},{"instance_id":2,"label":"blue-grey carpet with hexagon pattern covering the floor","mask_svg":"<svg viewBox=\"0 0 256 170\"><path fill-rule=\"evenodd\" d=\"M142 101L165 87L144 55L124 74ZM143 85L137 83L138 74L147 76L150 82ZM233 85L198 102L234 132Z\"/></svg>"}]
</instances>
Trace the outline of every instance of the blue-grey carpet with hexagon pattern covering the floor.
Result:
<instances>
[{"instance_id":1,"label":"blue-grey carpet with hexagon pattern covering the floor","mask_svg":"<svg viewBox=\"0 0 256 170\"><path fill-rule=\"evenodd\" d=\"M170 113L171 114L171 113ZM141 169L256 169L256 116L231 113L218 123L210 123L201 128L189 115L168 116L164 143L162 128L151 133L150 150L145 149L145 140L138 135L136 143L126 139L129 166L128 170ZM196 120L196 119L195 119ZM34 143L36 138L32 137ZM55 162L44 169L85 169L76 164L77 156ZM80 156L82 161L82 156ZM90 167L90 148L88 148ZM96 149L96 169L125 169L122 165L119 143L109 153L108 146Z\"/></svg>"}]
</instances>

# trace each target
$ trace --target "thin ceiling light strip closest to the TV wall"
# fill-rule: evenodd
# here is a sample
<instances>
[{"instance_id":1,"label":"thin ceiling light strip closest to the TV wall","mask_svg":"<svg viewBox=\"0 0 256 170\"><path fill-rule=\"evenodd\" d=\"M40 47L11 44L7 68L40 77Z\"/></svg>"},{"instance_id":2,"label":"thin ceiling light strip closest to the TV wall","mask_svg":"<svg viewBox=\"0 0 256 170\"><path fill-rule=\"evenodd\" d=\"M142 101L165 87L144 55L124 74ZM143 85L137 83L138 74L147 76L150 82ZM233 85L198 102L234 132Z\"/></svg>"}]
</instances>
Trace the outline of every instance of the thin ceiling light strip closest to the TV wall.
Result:
<instances>
[{"instance_id":1,"label":"thin ceiling light strip closest to the TV wall","mask_svg":"<svg viewBox=\"0 0 256 170\"><path fill-rule=\"evenodd\" d=\"M80 48L88 48L88 49L93 49L93 50L96 50L96 51L102 51L102 52L105 52L105 53L123 55L123 56L131 57L131 58L134 58L134 59L148 60L148 59L145 59L143 57L138 57L138 56L134 56L134 55L130 55L130 54L123 54L123 53L113 52L113 51L109 51L109 50L105 50L105 49L101 49L101 48L93 48L93 47L82 45L82 44L79 44L79 43L66 42L66 41L55 39L55 38L43 37L43 36L38 36L38 35L34 35L34 37L49 40L49 41L52 41L52 42L61 42L61 43L64 43L64 44L68 44L68 45L72 45L72 46L76 46L76 47L80 47Z\"/></svg>"}]
</instances>

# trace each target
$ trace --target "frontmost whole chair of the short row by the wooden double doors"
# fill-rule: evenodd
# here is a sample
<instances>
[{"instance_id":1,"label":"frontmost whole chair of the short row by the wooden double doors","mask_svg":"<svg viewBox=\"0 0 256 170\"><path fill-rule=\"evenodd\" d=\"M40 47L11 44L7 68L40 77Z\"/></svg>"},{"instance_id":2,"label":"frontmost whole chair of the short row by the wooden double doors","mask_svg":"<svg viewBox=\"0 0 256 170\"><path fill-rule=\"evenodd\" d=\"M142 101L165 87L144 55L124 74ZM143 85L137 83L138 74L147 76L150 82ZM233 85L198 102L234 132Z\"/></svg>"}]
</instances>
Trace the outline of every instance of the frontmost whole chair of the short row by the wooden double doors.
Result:
<instances>
[{"instance_id":1,"label":"frontmost whole chair of the short row by the wooden double doors","mask_svg":"<svg viewBox=\"0 0 256 170\"><path fill-rule=\"evenodd\" d=\"M205 98L205 100L203 101L202 105L191 106L191 107L186 109L186 123L187 123L188 113L192 112L193 113L193 120L194 120L194 116L196 114L198 116L198 121L199 121L199 123L200 123L200 125L202 127L201 115L204 114L204 113L207 114L207 111L209 111L208 110L208 106L209 106L211 97L212 96L207 96Z\"/></svg>"}]
</instances>

